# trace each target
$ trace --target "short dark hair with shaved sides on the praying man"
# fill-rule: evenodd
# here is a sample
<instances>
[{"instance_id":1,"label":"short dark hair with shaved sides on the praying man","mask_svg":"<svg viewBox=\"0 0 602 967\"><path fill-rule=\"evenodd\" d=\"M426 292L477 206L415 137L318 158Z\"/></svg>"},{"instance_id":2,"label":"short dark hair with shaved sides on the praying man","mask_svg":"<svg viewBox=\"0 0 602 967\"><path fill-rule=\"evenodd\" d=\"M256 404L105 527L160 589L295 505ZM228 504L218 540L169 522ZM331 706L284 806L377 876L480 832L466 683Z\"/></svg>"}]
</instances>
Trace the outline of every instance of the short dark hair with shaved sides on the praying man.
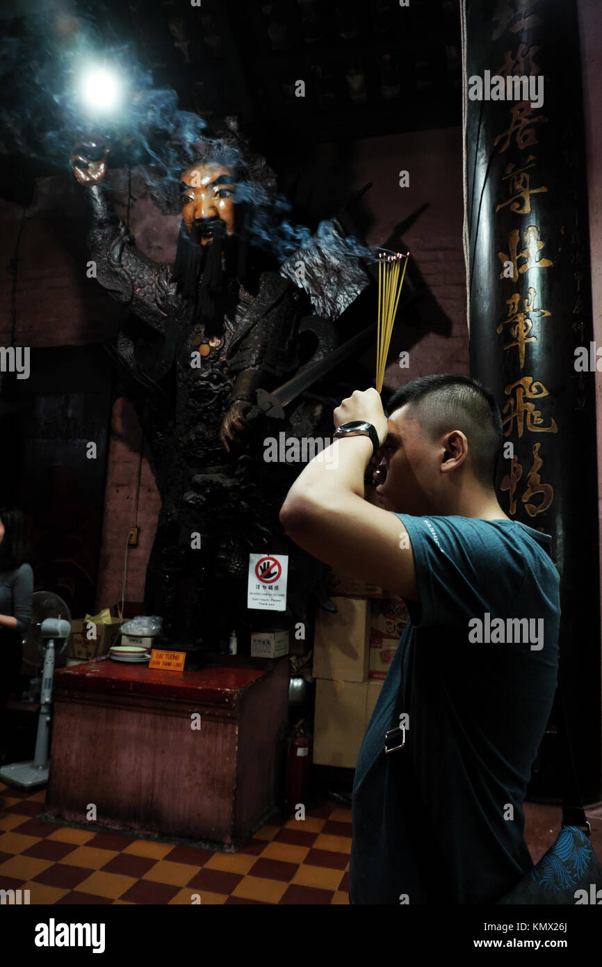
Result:
<instances>
[{"instance_id":1,"label":"short dark hair with shaved sides on the praying man","mask_svg":"<svg viewBox=\"0 0 602 967\"><path fill-rule=\"evenodd\" d=\"M502 450L502 417L495 397L472 376L452 373L420 376L396 390L387 401L387 416L408 404L429 439L461 429L469 442L475 480L495 485Z\"/></svg>"}]
</instances>

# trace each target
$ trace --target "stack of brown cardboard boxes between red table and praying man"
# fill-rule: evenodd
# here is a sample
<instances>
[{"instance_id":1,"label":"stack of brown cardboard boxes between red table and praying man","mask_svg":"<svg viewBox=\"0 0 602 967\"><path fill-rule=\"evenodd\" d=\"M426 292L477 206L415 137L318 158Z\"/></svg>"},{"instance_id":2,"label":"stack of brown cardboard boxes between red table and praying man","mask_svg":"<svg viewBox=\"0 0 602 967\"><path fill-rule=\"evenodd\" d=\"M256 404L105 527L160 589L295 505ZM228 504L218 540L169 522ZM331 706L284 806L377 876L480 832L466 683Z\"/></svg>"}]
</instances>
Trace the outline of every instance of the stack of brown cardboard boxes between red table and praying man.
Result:
<instances>
[{"instance_id":1,"label":"stack of brown cardboard boxes between red table and praying man","mask_svg":"<svg viewBox=\"0 0 602 967\"><path fill-rule=\"evenodd\" d=\"M382 588L338 573L330 595L337 613L320 610L314 634L313 761L355 769L407 612Z\"/></svg>"}]
</instances>

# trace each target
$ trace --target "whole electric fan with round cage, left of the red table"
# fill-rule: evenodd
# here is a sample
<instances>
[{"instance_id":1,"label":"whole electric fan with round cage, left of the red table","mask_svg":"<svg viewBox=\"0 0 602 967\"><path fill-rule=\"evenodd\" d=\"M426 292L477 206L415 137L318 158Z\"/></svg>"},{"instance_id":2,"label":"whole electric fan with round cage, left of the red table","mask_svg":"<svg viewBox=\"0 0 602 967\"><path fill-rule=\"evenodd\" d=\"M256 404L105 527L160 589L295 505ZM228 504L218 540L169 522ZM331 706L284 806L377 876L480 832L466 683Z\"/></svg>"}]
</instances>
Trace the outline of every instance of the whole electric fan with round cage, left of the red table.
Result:
<instances>
[{"instance_id":1,"label":"whole electric fan with round cage, left of the red table","mask_svg":"<svg viewBox=\"0 0 602 967\"><path fill-rule=\"evenodd\" d=\"M54 666L67 661L71 630L72 616L65 601L51 591L37 591L32 597L31 624L23 634L23 659L36 668L43 665L36 751L32 761L14 762L0 769L0 779L19 789L33 789L48 780Z\"/></svg>"}]
</instances>

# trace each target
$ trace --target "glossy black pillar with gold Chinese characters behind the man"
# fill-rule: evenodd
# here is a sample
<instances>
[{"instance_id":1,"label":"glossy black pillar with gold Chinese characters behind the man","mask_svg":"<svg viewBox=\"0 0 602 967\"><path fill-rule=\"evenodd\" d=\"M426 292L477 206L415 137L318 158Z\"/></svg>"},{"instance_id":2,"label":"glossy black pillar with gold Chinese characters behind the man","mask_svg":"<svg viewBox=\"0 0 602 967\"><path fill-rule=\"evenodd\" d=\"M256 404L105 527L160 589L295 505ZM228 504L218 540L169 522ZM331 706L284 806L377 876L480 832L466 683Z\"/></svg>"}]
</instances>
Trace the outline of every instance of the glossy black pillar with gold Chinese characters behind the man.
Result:
<instances>
[{"instance_id":1,"label":"glossy black pillar with gold Chinese characters behind the man","mask_svg":"<svg viewBox=\"0 0 602 967\"><path fill-rule=\"evenodd\" d=\"M471 373L502 410L502 508L553 538L561 674L591 802L602 787L598 492L594 373L579 352L589 359L592 322L575 0L469 0L467 61ZM530 790L556 797L554 721Z\"/></svg>"}]
</instances>

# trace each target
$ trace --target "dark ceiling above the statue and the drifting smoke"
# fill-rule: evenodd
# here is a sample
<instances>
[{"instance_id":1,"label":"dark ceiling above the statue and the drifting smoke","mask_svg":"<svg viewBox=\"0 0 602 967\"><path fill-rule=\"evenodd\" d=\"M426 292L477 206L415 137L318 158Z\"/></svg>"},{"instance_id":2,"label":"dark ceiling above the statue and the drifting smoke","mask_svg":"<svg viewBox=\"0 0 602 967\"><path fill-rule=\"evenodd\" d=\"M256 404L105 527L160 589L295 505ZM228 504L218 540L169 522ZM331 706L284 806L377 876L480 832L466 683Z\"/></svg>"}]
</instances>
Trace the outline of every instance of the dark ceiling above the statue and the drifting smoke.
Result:
<instances>
[{"instance_id":1,"label":"dark ceiling above the statue and the drifting smoke","mask_svg":"<svg viewBox=\"0 0 602 967\"><path fill-rule=\"evenodd\" d=\"M409 7L399 0L108 0L54 3L49 14L57 10L93 22L105 44L130 44L153 83L176 91L181 109L210 124L237 115L272 163L284 145L302 162L320 142L461 122L457 0L412 0ZM1 16L4 44L22 43L31 0ZM6 47L4 53L6 61ZM28 109L35 50L22 60L2 84L0 164L5 197L25 201L35 177L61 167L39 149L38 122ZM304 97L296 94L299 81ZM56 103L45 96L39 127L51 127L48 118L56 123ZM7 111L27 117L27 130L15 134L13 123L7 131Z\"/></svg>"}]
</instances>

